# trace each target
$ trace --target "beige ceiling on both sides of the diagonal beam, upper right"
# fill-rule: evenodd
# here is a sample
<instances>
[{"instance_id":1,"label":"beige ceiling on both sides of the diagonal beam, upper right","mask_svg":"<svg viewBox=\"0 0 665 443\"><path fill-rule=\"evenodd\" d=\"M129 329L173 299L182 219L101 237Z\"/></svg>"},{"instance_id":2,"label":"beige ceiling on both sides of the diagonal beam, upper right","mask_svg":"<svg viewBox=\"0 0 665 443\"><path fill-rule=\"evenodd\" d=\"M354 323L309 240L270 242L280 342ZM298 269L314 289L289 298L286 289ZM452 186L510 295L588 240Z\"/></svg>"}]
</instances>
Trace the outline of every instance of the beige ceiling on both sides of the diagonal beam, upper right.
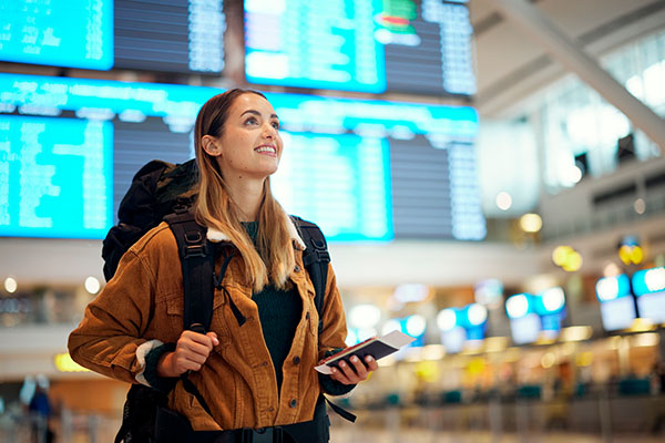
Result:
<instances>
[{"instance_id":1,"label":"beige ceiling on both sides of the diagonal beam, upper right","mask_svg":"<svg viewBox=\"0 0 665 443\"><path fill-rule=\"evenodd\" d=\"M494 119L520 116L528 107L525 97L566 73L532 35L501 16L499 2L469 1L477 52L474 105L482 116ZM665 23L665 0L531 2L585 52L596 56Z\"/></svg>"}]
</instances>

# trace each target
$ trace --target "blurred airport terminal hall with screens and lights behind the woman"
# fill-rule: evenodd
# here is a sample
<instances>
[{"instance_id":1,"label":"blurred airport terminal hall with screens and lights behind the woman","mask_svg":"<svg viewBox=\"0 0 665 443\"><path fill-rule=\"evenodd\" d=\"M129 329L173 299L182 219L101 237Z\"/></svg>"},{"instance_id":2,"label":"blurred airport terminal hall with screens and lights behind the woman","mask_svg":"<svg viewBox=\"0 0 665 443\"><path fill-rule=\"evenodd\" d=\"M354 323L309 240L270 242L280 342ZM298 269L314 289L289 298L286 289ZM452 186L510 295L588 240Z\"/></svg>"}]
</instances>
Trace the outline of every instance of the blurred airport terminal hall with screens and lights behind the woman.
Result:
<instances>
[{"instance_id":1,"label":"blurred airport terminal hall with screens and lights behind the woman","mask_svg":"<svg viewBox=\"0 0 665 443\"><path fill-rule=\"evenodd\" d=\"M133 174L264 91L348 343L332 442L665 439L665 1L0 0L0 441L108 442L66 337Z\"/></svg>"}]
</instances>

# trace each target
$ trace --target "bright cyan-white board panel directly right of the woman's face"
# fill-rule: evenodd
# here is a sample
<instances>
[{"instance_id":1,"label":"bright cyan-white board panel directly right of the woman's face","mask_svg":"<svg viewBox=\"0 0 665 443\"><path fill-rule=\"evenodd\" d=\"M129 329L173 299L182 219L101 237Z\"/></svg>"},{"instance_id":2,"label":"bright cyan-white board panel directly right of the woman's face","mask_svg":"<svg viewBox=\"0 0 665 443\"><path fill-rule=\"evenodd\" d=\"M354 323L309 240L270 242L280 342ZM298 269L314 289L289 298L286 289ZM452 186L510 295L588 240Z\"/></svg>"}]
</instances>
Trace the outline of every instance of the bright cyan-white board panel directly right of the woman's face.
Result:
<instances>
[{"instance_id":1,"label":"bright cyan-white board panel directly right of the woman's face","mask_svg":"<svg viewBox=\"0 0 665 443\"><path fill-rule=\"evenodd\" d=\"M289 213L317 220L336 240L393 237L386 138L288 132L283 138L288 147L270 186Z\"/></svg>"}]
</instances>

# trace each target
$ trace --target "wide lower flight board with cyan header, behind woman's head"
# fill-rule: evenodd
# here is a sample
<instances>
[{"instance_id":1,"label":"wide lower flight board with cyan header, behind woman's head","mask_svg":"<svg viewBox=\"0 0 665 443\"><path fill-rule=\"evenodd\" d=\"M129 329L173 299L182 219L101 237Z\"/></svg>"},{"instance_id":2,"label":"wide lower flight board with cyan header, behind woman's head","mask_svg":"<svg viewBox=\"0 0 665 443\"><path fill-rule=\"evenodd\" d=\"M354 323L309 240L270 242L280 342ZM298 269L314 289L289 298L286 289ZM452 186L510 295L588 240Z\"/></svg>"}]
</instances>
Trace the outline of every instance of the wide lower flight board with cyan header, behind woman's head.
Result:
<instances>
[{"instance_id":1,"label":"wide lower flight board with cyan header, behind woman's head","mask_svg":"<svg viewBox=\"0 0 665 443\"><path fill-rule=\"evenodd\" d=\"M0 235L65 238L103 238L146 162L191 158L222 92L13 74L0 91ZM274 194L330 240L484 237L473 109L266 95L285 142Z\"/></svg>"}]
</instances>

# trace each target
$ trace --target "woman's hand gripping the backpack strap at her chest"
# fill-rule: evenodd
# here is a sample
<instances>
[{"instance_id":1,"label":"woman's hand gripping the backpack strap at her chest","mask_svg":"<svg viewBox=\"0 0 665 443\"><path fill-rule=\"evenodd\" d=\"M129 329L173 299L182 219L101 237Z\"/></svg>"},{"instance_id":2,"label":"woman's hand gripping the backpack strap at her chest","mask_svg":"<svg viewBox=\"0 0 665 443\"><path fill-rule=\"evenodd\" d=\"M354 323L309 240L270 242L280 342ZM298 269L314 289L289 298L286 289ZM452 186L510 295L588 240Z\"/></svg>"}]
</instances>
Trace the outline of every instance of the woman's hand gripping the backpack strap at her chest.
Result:
<instances>
[{"instance_id":1,"label":"woman's hand gripping the backpack strap at her chest","mask_svg":"<svg viewBox=\"0 0 665 443\"><path fill-rule=\"evenodd\" d=\"M175 344L175 351L166 352L157 362L157 375L180 377L187 371L198 371L207 360L213 347L219 344L217 334L183 331Z\"/></svg>"}]
</instances>

